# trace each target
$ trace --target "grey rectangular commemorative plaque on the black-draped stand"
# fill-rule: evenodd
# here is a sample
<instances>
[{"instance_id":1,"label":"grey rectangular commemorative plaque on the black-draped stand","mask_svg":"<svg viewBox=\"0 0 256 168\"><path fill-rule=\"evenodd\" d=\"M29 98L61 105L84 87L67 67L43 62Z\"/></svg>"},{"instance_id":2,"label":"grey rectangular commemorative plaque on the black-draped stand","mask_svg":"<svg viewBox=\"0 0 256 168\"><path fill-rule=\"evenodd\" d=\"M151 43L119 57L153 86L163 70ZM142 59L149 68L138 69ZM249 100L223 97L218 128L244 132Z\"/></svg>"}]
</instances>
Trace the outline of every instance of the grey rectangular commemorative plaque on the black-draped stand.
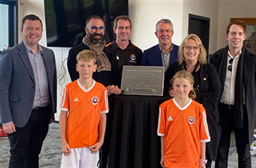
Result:
<instances>
[{"instance_id":1,"label":"grey rectangular commemorative plaque on the black-draped stand","mask_svg":"<svg viewBox=\"0 0 256 168\"><path fill-rule=\"evenodd\" d=\"M164 66L123 66L124 95L163 96Z\"/></svg>"}]
</instances>

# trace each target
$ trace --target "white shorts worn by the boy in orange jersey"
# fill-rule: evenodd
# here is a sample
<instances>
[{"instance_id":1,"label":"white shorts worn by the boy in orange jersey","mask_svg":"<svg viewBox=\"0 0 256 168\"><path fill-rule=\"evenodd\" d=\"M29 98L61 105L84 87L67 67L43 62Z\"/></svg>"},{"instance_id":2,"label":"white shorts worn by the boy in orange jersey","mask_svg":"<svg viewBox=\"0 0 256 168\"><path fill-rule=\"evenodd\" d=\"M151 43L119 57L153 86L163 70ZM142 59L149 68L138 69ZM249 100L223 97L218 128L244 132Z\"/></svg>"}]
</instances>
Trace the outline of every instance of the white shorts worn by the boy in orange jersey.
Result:
<instances>
[{"instance_id":1,"label":"white shorts worn by the boy in orange jersey","mask_svg":"<svg viewBox=\"0 0 256 168\"><path fill-rule=\"evenodd\" d=\"M73 148L67 156L62 153L60 167L98 167L99 159L99 151L93 154L88 147Z\"/></svg>"}]
</instances>

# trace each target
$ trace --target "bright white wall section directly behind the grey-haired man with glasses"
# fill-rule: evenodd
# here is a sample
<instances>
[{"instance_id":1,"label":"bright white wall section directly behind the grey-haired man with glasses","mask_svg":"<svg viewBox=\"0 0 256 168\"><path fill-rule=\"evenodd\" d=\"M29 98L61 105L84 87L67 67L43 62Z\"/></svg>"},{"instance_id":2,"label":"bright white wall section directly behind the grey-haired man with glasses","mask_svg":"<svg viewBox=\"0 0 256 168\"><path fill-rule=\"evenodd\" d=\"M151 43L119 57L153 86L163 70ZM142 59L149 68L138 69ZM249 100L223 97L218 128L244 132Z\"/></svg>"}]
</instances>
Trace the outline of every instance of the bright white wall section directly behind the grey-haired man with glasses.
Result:
<instances>
[{"instance_id":1,"label":"bright white wall section directly behind the grey-haired man with glasses","mask_svg":"<svg viewBox=\"0 0 256 168\"><path fill-rule=\"evenodd\" d=\"M129 17L133 28L131 40L143 50L158 44L156 22L170 19L174 27L173 43L181 43L183 1L129 1Z\"/></svg>"}]
</instances>

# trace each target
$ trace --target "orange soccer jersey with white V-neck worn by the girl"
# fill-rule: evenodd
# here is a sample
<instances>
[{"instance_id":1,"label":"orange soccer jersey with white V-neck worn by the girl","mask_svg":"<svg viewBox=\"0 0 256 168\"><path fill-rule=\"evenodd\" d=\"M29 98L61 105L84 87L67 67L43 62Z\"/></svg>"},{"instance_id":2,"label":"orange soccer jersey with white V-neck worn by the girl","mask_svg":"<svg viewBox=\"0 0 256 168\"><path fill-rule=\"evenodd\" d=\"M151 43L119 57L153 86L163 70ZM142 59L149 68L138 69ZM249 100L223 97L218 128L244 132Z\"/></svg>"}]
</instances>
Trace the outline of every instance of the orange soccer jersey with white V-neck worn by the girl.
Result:
<instances>
[{"instance_id":1,"label":"orange soccer jersey with white V-neck worn by the girl","mask_svg":"<svg viewBox=\"0 0 256 168\"><path fill-rule=\"evenodd\" d=\"M190 99L180 107L175 99L159 106L158 136L164 136L165 167L199 167L201 142L210 134L204 107Z\"/></svg>"}]
</instances>

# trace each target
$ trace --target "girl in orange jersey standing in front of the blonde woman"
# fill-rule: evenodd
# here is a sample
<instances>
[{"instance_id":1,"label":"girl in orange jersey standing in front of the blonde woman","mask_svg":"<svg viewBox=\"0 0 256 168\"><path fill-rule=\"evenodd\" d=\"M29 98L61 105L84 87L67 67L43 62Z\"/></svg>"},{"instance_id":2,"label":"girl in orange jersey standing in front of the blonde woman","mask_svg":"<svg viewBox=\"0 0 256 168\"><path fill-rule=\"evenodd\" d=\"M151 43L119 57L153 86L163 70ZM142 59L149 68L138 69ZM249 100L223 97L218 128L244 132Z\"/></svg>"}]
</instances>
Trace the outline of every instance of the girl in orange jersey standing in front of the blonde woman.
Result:
<instances>
[{"instance_id":1,"label":"girl in orange jersey standing in front of the blonde woman","mask_svg":"<svg viewBox=\"0 0 256 168\"><path fill-rule=\"evenodd\" d=\"M171 84L174 98L159 106L161 165L205 167L205 142L210 141L210 134L204 107L192 100L196 97L193 75L181 70L173 76Z\"/></svg>"}]
</instances>

